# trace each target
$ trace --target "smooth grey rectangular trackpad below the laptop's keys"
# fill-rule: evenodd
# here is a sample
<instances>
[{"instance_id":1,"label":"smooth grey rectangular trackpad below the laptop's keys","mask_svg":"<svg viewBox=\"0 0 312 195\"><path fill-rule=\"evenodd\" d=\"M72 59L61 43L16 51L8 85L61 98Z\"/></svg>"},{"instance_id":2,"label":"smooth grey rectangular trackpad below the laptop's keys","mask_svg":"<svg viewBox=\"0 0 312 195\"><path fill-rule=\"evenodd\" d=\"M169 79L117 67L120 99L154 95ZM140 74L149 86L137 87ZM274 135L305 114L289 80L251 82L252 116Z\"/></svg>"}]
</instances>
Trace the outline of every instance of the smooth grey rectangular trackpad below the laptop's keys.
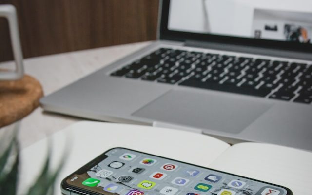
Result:
<instances>
[{"instance_id":1,"label":"smooth grey rectangular trackpad below the laptop's keys","mask_svg":"<svg viewBox=\"0 0 312 195\"><path fill-rule=\"evenodd\" d=\"M207 92L171 90L134 116L237 134L272 104Z\"/></svg>"}]
</instances>

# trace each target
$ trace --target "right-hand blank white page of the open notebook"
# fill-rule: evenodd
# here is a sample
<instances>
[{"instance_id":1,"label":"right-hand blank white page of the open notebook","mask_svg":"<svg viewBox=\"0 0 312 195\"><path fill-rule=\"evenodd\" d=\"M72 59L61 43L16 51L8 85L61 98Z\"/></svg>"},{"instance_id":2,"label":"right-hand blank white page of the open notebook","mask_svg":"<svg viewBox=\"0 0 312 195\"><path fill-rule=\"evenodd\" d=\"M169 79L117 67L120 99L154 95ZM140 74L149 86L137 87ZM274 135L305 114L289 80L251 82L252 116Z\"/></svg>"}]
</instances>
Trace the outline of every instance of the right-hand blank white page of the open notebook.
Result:
<instances>
[{"instance_id":1,"label":"right-hand blank white page of the open notebook","mask_svg":"<svg viewBox=\"0 0 312 195\"><path fill-rule=\"evenodd\" d=\"M210 168L282 185L294 195L312 195L312 153L262 143L239 143Z\"/></svg>"}]
</instances>

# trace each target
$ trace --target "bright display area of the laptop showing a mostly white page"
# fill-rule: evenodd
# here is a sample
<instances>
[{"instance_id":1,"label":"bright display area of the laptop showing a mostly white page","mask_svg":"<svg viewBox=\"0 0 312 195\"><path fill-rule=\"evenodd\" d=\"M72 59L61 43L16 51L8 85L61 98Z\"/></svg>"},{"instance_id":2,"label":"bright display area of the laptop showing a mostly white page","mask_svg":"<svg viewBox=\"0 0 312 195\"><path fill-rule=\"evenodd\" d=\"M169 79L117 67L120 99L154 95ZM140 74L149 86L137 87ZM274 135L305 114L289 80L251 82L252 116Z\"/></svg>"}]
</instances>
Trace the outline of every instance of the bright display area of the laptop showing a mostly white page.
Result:
<instances>
[{"instance_id":1,"label":"bright display area of the laptop showing a mostly white page","mask_svg":"<svg viewBox=\"0 0 312 195\"><path fill-rule=\"evenodd\" d=\"M169 31L312 43L312 0L170 0Z\"/></svg>"}]
</instances>

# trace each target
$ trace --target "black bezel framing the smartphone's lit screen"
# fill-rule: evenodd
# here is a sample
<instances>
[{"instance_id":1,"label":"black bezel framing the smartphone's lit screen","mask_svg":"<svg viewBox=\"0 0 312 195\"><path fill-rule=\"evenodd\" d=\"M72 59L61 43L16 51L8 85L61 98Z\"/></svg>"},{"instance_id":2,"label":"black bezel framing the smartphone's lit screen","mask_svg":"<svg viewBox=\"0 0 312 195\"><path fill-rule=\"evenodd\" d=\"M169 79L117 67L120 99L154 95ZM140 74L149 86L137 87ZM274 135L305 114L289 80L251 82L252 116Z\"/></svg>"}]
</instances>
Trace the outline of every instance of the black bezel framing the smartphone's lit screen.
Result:
<instances>
[{"instance_id":1,"label":"black bezel framing the smartphone's lit screen","mask_svg":"<svg viewBox=\"0 0 312 195\"><path fill-rule=\"evenodd\" d=\"M152 156L156 156L156 157L159 157L159 158L163 158L163 159L167 159L167 160L172 160L172 161L176 161L176 162L179 162L179 163L184 163L184 164L187 164L187 165L192 165L192 166L195 166L195 167L200 167L200 168L203 168L203 169L208 169L208 170L212 170L212 171L216 171L216 172L220 172L220 173L223 173L223 174L228 174L228 175L231 175L231 176L237 176L237 177L242 177L242 178L245 178L245 179L250 179L250 180L253 180L253 181L258 181L258 182L262 182L262 183L265 183L265 184L268 184L268 185L272 185L272 186L276 186L276 187L279 187L279 188L284 188L286 191L287 191L287 194L286 195L293 195L292 194L292 191L289 189L289 188L286 188L284 186L280 186L280 185L276 185L276 184L273 184L273 183L269 183L269 182L265 182L265 181L260 181L260 180L257 180L257 179L252 179L252 178L249 178L249 177L245 177L245 176L238 176L238 175L235 175L235 174L231 174L231 173L227 173L227 172L224 172L224 171L219 171L219 170L215 170L215 169L211 169L211 168L207 168L207 167L202 167L202 166L199 166L199 165L195 165L195 164L191 164L191 163L187 163L187 162L182 162L182 161L179 161L179 160L175 160L175 159L171 159L171 158L167 158L167 157L163 157L163 156L157 156L157 155L153 155L153 154L149 154L149 153L145 153L145 152L141 152L141 151L137 151L137 150L133 150L133 149L129 149L129 148L123 148L123 147L115 147L115 148L111 148L107 151L105 151L104 153L102 153L101 155L99 155L98 157L96 157L95 159L91 160L90 162L88 162L87 164L85 164L84 166L82 166L81 168L79 168L77 171L73 172L72 174L70 174L69 176L66 176L62 182L61 182L61 188L63 190L66 190L66 191L69 191L69 192L73 192L73 193L81 193L81 195L103 195L103 194L98 194L96 192L92 192L92 191L89 191L89 190L86 190L86 189L83 189L83 188L78 188L76 186L71 186L70 184L68 184L66 182L66 180L74 175L74 174L79 174L79 173L85 173L87 170L91 169L92 167L94 167L95 165L97 165L99 162L101 162L102 160L105 160L108 156L105 155L106 153L108 153L109 151L111 150L116 150L116 149L126 149L126 150L130 150L130 151L133 151L133 152L137 152L137 153L141 153L141 154L144 154L144 155L152 155ZM104 194L105 195L105 194ZM106 195L117 195L116 193L107 193Z\"/></svg>"}]
</instances>

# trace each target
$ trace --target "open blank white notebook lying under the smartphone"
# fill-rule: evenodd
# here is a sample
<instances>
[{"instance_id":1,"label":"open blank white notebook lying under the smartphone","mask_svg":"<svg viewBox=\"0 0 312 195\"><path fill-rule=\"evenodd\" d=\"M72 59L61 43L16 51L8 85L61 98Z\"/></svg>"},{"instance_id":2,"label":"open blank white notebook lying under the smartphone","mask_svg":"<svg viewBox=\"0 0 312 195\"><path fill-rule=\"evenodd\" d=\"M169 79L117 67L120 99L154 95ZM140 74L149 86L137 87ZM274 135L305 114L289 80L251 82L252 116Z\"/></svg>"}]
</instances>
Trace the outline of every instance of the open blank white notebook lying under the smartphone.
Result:
<instances>
[{"instance_id":1,"label":"open blank white notebook lying under the smartphone","mask_svg":"<svg viewBox=\"0 0 312 195\"><path fill-rule=\"evenodd\" d=\"M294 195L312 194L312 153L262 143L233 146L192 132L173 129L83 121L51 136L56 166L66 144L70 146L65 167L56 185L82 165L114 147L130 148L240 176L282 185ZM19 194L39 174L47 152L47 139L24 149L21 154Z\"/></svg>"}]
</instances>

